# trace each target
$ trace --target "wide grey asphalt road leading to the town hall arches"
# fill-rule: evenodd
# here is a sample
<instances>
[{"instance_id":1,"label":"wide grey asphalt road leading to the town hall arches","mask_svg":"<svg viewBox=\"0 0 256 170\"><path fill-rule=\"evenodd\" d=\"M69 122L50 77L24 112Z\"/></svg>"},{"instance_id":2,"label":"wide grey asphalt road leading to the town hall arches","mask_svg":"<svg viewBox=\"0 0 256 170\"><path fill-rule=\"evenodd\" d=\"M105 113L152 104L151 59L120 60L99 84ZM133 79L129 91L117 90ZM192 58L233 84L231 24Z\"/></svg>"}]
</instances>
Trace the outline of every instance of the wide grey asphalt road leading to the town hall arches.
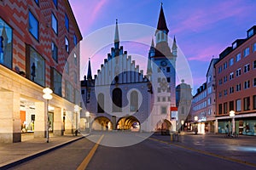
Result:
<instances>
[{"instance_id":1,"label":"wide grey asphalt road leading to the town hall arches","mask_svg":"<svg viewBox=\"0 0 256 170\"><path fill-rule=\"evenodd\" d=\"M147 135L143 136L141 133L105 133L104 135L97 133L90 135L88 139L80 139L12 169L77 169L84 160L88 161L89 155L91 159L86 167L89 170L255 169L236 161L167 144L156 140L157 136L154 136L154 139L145 139L145 136ZM104 145L97 145L90 141L99 141L99 139L102 139L101 142ZM127 140L131 141L131 144L138 140L141 142L132 145L125 143L126 146L121 147L120 145ZM114 147L115 144L108 146L113 141L119 147Z\"/></svg>"}]
</instances>

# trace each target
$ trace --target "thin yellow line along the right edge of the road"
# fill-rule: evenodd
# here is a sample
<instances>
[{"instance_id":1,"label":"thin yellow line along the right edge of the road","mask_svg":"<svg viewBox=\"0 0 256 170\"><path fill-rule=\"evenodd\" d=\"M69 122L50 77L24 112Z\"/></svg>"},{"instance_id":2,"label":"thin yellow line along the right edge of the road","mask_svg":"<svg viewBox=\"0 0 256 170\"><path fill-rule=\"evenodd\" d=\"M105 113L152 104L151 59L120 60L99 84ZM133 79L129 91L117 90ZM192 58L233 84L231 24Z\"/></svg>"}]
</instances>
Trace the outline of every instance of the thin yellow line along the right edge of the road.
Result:
<instances>
[{"instance_id":1,"label":"thin yellow line along the right edge of the road","mask_svg":"<svg viewBox=\"0 0 256 170\"><path fill-rule=\"evenodd\" d=\"M154 139L154 138L148 138L148 139L151 139L151 140L154 140L154 141L157 141L157 142L160 142L160 143L164 143L164 144L172 144L170 142L166 142L166 141L163 141L163 140L160 140L160 139ZM224 159L224 160L227 160L227 161L235 161L235 162L238 162L238 163L241 163L241 164L246 164L246 165L249 165L249 166L252 166L252 167L256 167L256 164L252 163L252 162L241 161L241 160L231 158L231 157L228 157L228 156L219 156L219 155L213 154L211 152L207 152L207 151L204 151L204 150L196 150L194 148L189 148L188 146L184 146L184 145L180 145L180 144L172 144L172 145L177 146L179 148L187 149L187 150L193 150L193 151L199 152L199 153L207 155L207 156L214 156L214 157L218 157L220 159Z\"/></svg>"}]
</instances>

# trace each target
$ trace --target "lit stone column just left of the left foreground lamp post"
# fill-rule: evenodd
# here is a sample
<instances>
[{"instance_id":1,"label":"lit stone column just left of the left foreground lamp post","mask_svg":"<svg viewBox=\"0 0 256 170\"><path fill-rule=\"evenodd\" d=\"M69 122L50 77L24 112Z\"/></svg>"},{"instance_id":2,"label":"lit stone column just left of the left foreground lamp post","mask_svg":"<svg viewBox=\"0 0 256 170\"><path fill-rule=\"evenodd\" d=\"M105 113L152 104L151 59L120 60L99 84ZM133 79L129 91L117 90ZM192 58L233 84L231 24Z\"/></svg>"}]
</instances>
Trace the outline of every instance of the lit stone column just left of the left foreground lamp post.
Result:
<instances>
[{"instance_id":1,"label":"lit stone column just left of the left foreground lamp post","mask_svg":"<svg viewBox=\"0 0 256 170\"><path fill-rule=\"evenodd\" d=\"M35 138L46 138L47 105L44 102L35 102Z\"/></svg>"}]
</instances>

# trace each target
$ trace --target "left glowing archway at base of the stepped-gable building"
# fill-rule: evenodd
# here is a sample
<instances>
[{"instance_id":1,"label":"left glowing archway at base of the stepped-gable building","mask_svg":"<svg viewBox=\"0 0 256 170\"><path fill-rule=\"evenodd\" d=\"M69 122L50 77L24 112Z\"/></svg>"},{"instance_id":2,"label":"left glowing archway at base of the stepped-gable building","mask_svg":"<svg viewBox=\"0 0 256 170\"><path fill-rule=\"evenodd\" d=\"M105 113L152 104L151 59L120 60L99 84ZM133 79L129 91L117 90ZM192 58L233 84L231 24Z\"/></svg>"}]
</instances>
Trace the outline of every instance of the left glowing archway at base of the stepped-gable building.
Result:
<instances>
[{"instance_id":1,"label":"left glowing archway at base of the stepped-gable building","mask_svg":"<svg viewBox=\"0 0 256 170\"><path fill-rule=\"evenodd\" d=\"M108 117L99 116L99 117L96 117L92 122L91 129L92 130L112 130L113 124L108 119Z\"/></svg>"}]
</instances>

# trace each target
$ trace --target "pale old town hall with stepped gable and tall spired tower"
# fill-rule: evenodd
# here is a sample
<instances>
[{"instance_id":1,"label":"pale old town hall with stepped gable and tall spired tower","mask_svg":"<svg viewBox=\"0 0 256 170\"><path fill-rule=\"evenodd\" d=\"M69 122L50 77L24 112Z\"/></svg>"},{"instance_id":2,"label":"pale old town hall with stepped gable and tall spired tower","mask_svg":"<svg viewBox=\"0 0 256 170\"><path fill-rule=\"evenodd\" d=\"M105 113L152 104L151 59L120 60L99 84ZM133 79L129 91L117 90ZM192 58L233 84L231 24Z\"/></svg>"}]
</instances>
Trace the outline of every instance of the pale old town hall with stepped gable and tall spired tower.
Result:
<instances>
[{"instance_id":1,"label":"pale old town hall with stepped gable and tall spired tower","mask_svg":"<svg viewBox=\"0 0 256 170\"><path fill-rule=\"evenodd\" d=\"M177 44L168 44L168 28L161 6L160 15L148 52L146 75L135 60L120 46L116 22L113 48L104 64L92 77L89 60L87 77L81 82L82 97L90 112L91 129L129 129L153 132L176 130L172 108L176 107ZM155 45L154 45L155 42Z\"/></svg>"}]
</instances>

